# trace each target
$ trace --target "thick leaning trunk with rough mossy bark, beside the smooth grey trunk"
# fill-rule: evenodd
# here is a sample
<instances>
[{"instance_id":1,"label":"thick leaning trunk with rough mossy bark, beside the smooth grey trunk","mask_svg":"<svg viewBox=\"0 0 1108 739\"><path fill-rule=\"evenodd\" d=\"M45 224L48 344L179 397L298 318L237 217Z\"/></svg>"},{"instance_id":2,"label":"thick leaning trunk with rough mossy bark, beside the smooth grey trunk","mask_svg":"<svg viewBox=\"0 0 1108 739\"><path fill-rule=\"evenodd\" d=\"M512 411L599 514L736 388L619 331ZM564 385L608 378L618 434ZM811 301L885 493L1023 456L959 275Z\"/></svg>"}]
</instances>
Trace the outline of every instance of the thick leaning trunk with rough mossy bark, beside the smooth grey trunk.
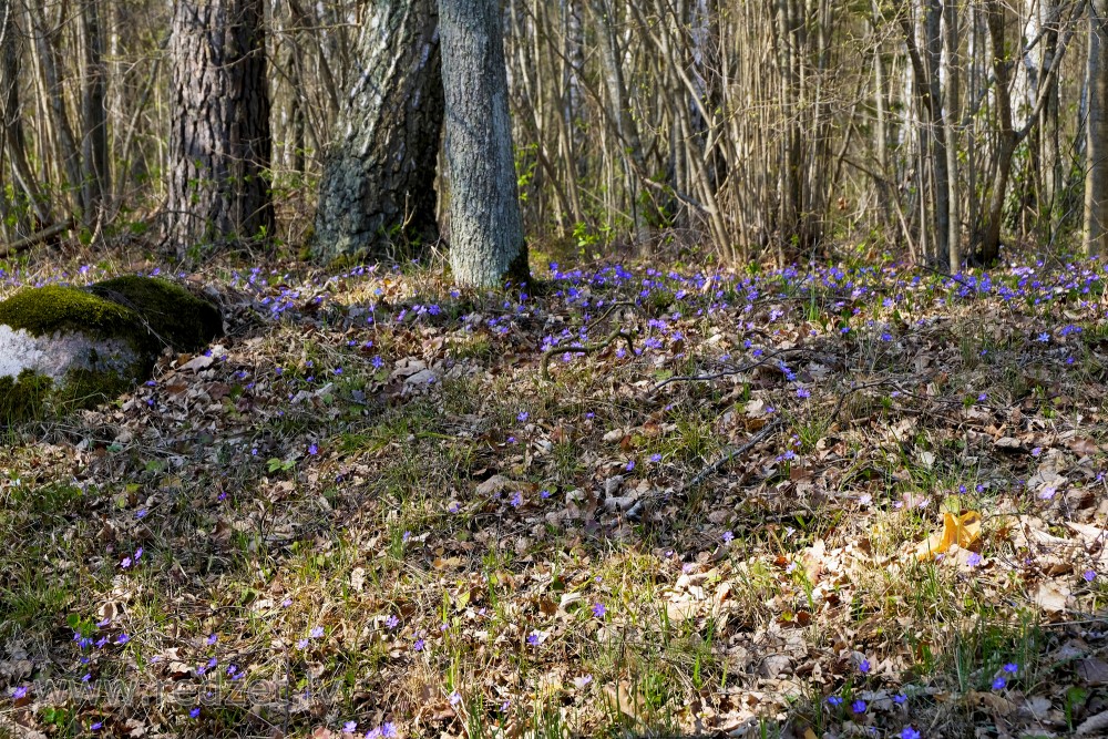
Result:
<instances>
[{"instance_id":1,"label":"thick leaning trunk with rough mossy bark, beside the smooth grey trunk","mask_svg":"<svg viewBox=\"0 0 1108 739\"><path fill-rule=\"evenodd\" d=\"M383 256L425 246L435 224L442 131L435 0L377 0L358 37L361 61L325 162L315 254Z\"/></svg>"}]
</instances>

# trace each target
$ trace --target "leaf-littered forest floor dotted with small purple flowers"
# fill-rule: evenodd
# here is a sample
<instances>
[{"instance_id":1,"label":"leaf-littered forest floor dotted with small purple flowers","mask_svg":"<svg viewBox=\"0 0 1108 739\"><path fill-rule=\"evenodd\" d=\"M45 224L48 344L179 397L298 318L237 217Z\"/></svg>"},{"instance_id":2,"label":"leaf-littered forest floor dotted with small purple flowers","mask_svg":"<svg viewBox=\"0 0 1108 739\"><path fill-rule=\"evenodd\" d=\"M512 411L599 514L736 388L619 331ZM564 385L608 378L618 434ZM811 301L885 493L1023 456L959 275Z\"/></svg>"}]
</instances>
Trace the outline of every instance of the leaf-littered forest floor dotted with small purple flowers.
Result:
<instances>
[{"instance_id":1,"label":"leaf-littered forest floor dotted with small purple flowers","mask_svg":"<svg viewBox=\"0 0 1108 739\"><path fill-rule=\"evenodd\" d=\"M534 269L211 267L9 429L0 736L1108 733L1105 263Z\"/></svg>"}]
</instances>

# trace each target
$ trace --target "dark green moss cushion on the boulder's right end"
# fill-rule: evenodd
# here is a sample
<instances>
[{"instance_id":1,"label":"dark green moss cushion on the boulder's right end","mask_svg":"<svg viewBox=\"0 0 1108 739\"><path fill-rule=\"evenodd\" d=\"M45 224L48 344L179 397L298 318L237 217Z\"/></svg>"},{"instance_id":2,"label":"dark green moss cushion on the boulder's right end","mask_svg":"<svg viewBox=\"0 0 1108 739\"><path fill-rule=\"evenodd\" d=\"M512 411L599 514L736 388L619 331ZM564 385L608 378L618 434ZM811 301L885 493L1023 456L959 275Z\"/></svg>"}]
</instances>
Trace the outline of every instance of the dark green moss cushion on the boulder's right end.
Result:
<instances>
[{"instance_id":1,"label":"dark green moss cushion on the boulder's right end","mask_svg":"<svg viewBox=\"0 0 1108 739\"><path fill-rule=\"evenodd\" d=\"M223 317L215 306L164 279L131 275L96 283L89 290L130 308L163 343L181 351L195 351L223 333Z\"/></svg>"}]
</instances>

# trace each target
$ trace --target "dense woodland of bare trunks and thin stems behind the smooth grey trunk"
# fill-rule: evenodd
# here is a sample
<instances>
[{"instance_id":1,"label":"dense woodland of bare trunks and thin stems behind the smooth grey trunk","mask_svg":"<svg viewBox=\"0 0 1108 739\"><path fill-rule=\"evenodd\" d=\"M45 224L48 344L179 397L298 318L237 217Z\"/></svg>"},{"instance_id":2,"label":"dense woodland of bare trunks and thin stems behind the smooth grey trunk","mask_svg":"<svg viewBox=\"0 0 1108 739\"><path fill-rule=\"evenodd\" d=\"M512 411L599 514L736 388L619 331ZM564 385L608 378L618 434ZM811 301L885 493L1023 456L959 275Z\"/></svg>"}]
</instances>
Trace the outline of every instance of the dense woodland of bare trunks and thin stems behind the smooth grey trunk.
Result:
<instances>
[{"instance_id":1,"label":"dense woodland of bare trunks and thin stems behind the smooth grey trunk","mask_svg":"<svg viewBox=\"0 0 1108 739\"><path fill-rule=\"evenodd\" d=\"M435 13L0 0L0 236L425 254L451 192ZM1102 250L1105 18L1104 0L506 0L524 232L950 270L1002 243Z\"/></svg>"}]
</instances>

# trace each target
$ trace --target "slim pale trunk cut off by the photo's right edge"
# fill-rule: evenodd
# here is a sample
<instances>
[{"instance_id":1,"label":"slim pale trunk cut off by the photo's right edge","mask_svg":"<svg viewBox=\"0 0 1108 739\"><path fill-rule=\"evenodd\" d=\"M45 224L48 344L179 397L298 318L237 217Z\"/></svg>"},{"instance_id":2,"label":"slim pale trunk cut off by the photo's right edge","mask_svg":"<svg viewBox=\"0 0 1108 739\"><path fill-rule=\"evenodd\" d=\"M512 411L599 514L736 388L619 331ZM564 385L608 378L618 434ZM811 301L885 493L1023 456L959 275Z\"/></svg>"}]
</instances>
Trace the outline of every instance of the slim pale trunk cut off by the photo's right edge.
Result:
<instances>
[{"instance_id":1,"label":"slim pale trunk cut off by the photo's right edge","mask_svg":"<svg viewBox=\"0 0 1108 739\"><path fill-rule=\"evenodd\" d=\"M1089 2L1085 253L1108 254L1108 0Z\"/></svg>"}]
</instances>

